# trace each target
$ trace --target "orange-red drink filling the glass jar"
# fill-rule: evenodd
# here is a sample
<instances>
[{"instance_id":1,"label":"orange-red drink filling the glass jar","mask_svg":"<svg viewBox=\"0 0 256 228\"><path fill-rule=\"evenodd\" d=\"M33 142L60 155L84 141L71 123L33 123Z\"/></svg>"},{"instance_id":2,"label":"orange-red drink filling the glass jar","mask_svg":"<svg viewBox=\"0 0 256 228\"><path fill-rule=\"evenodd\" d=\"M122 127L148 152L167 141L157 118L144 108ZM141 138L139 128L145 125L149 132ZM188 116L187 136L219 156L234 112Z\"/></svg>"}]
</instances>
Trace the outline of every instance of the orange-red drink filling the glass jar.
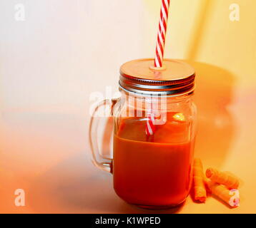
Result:
<instances>
[{"instance_id":1,"label":"orange-red drink filling the glass jar","mask_svg":"<svg viewBox=\"0 0 256 228\"><path fill-rule=\"evenodd\" d=\"M146 121L125 118L114 135L114 190L126 202L149 207L177 205L192 182L194 140L189 123L167 113L167 123L145 134ZM147 207L146 206L146 207Z\"/></svg>"}]
</instances>

